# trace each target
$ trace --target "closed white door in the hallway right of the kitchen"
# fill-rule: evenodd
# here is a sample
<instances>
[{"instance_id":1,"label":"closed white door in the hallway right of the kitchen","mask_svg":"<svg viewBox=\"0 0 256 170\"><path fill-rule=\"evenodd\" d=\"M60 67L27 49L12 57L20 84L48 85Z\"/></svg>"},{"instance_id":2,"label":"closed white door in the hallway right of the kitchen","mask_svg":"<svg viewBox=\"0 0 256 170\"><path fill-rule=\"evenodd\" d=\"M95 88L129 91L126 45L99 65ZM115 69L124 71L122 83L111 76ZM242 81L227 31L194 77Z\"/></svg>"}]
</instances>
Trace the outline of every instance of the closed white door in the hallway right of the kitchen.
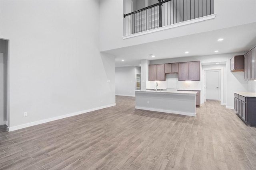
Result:
<instances>
[{"instance_id":1,"label":"closed white door in the hallway right of the kitchen","mask_svg":"<svg viewBox=\"0 0 256 170\"><path fill-rule=\"evenodd\" d=\"M205 98L218 100L219 74L218 71L205 72Z\"/></svg>"}]
</instances>

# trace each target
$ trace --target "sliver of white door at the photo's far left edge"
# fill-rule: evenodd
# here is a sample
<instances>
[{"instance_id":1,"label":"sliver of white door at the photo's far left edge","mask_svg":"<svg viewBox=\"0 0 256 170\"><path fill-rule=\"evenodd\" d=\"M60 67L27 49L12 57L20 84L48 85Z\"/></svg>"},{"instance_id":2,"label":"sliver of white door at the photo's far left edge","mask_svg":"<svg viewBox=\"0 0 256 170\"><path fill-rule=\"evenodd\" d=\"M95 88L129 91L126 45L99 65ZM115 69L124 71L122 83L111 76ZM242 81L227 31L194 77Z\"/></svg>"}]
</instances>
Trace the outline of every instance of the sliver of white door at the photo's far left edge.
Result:
<instances>
[{"instance_id":1,"label":"sliver of white door at the photo's far left edge","mask_svg":"<svg viewBox=\"0 0 256 170\"><path fill-rule=\"evenodd\" d=\"M0 53L0 125L4 125L4 53Z\"/></svg>"}]
</instances>

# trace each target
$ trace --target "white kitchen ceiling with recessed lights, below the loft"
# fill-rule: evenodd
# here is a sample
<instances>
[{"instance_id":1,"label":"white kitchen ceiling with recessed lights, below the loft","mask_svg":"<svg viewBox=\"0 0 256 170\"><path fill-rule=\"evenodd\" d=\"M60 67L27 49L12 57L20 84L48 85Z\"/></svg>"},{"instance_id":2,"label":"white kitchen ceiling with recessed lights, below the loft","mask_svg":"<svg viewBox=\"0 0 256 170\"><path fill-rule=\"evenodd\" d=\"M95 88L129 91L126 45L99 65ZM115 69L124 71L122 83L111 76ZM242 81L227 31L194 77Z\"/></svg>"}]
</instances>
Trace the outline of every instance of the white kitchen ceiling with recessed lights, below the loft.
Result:
<instances>
[{"instance_id":1,"label":"white kitchen ceiling with recessed lights, below the loft","mask_svg":"<svg viewBox=\"0 0 256 170\"><path fill-rule=\"evenodd\" d=\"M218 41L223 38L223 41ZM139 66L141 60L246 52L256 45L256 23L104 51L116 67ZM214 51L218 50L216 53ZM188 54L185 54L188 51ZM150 54L156 57L152 58ZM124 61L122 61L124 60Z\"/></svg>"}]
</instances>

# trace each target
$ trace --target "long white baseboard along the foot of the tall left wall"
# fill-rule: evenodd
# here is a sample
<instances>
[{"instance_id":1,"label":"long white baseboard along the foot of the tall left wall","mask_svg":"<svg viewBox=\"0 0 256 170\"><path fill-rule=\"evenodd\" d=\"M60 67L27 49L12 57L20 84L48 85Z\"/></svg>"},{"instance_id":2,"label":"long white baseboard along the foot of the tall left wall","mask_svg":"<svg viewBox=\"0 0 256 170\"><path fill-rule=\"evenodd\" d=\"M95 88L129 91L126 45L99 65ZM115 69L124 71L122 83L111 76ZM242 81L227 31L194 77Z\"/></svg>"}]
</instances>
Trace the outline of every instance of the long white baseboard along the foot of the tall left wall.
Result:
<instances>
[{"instance_id":1,"label":"long white baseboard along the foot of the tall left wall","mask_svg":"<svg viewBox=\"0 0 256 170\"><path fill-rule=\"evenodd\" d=\"M31 122L31 123L26 123L26 124L14 126L14 127L7 127L7 131L8 131L8 132L10 132L10 131L15 131L15 130L22 129L22 128L25 128L25 127L30 127L30 126L34 126L34 125L39 125L39 124L42 124L42 123L47 123L47 122L50 122L50 121L54 121L54 120L58 120L58 119L63 119L63 118L66 118L66 117L71 117L71 116L75 116L75 115L80 115L80 114L83 114L83 113L88 113L88 112L90 112L90 111L95 111L95 110L99 110L99 109L104 109L104 108L112 107L112 106L116 106L116 104L114 103L114 104L110 104L110 105L106 105L106 106L96 107L96 108L93 108L93 109L82 110L82 111L78 111L78 112L75 112L75 113L69 113L69 114L66 114L66 115L61 115L61 116L57 116L57 117L52 117L52 118L49 118L49 119L44 119L44 120L40 120L40 121L34 121L34 122ZM8 122L7 122L7 123L8 123Z\"/></svg>"}]
</instances>

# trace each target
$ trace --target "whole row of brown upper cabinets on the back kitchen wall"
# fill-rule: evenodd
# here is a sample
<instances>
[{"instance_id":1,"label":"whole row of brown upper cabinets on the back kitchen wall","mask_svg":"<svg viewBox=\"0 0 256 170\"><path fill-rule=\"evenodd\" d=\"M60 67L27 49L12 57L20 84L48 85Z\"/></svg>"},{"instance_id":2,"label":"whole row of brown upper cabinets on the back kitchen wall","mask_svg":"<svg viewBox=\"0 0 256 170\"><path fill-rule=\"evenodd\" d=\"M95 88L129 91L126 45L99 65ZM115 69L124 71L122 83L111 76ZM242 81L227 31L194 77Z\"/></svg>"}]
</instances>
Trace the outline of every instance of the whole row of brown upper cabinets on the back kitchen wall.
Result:
<instances>
[{"instance_id":1,"label":"whole row of brown upper cabinets on the back kitchen wall","mask_svg":"<svg viewBox=\"0 0 256 170\"><path fill-rule=\"evenodd\" d=\"M179 81L200 81L200 61L148 65L148 81L165 81L168 73L178 73Z\"/></svg>"}]
</instances>

